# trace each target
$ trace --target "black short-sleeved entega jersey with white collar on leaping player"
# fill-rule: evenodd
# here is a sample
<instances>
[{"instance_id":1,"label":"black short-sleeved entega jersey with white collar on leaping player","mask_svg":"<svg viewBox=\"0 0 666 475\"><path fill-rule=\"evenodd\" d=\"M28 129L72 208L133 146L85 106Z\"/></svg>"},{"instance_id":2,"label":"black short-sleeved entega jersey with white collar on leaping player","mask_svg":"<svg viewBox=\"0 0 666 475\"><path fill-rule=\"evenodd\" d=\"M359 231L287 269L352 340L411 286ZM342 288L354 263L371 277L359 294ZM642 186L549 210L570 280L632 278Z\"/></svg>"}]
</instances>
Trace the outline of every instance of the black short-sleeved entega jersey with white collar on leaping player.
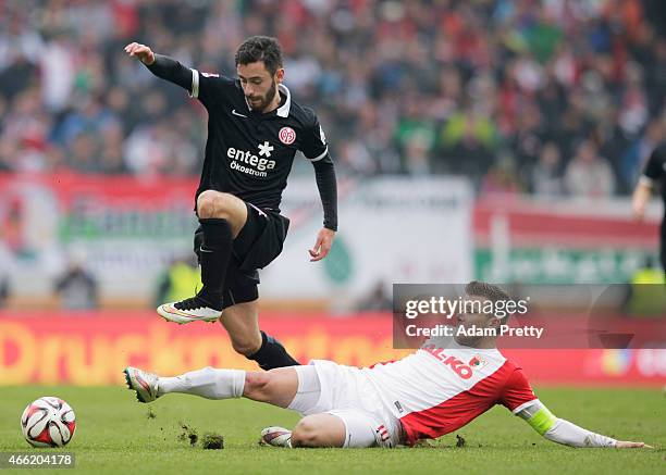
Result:
<instances>
[{"instance_id":1,"label":"black short-sleeved entega jersey with white collar on leaping player","mask_svg":"<svg viewBox=\"0 0 666 475\"><path fill-rule=\"evenodd\" d=\"M212 189L279 210L296 151L313 162L328 153L317 116L294 102L284 85L281 105L266 114L249 108L237 79L192 70L190 90L209 114L197 196Z\"/></svg>"}]
</instances>

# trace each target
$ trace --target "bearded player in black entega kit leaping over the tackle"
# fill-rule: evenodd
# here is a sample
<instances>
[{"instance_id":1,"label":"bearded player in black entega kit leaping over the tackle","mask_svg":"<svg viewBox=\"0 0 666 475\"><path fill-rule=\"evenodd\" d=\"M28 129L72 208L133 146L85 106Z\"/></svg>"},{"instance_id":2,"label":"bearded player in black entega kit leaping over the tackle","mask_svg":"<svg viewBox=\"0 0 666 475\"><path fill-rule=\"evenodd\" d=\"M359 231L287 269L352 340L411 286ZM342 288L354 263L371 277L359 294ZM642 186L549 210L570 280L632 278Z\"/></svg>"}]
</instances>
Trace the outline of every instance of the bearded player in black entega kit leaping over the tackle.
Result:
<instances>
[{"instance_id":1,"label":"bearded player in black entega kit leaping over the tackle","mask_svg":"<svg viewBox=\"0 0 666 475\"><path fill-rule=\"evenodd\" d=\"M317 116L293 101L282 84L280 43L264 36L244 41L235 57L238 79L190 70L137 42L125 51L156 76L186 89L208 111L195 233L203 287L192 298L160 305L158 313L180 324L219 320L234 350L263 370L298 364L259 329L257 270L282 252L289 221L280 214L280 201L297 150L314 166L324 212L323 228L309 250L311 261L331 249L337 191Z\"/></svg>"}]
</instances>

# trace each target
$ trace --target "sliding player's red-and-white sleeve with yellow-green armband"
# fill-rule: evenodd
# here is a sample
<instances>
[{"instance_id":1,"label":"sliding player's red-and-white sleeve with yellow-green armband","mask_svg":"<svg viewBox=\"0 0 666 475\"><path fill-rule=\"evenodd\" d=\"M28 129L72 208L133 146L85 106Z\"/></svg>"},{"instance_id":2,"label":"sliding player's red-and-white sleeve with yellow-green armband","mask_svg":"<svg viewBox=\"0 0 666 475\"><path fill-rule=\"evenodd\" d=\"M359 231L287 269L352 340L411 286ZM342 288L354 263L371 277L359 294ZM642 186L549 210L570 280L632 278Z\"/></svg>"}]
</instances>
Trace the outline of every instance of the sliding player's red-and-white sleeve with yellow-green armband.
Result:
<instances>
[{"instance_id":1,"label":"sliding player's red-and-white sleeve with yellow-green armband","mask_svg":"<svg viewBox=\"0 0 666 475\"><path fill-rule=\"evenodd\" d=\"M615 447L617 440L558 418L534 396L522 370L510 376L502 403L548 440L570 447Z\"/></svg>"}]
</instances>

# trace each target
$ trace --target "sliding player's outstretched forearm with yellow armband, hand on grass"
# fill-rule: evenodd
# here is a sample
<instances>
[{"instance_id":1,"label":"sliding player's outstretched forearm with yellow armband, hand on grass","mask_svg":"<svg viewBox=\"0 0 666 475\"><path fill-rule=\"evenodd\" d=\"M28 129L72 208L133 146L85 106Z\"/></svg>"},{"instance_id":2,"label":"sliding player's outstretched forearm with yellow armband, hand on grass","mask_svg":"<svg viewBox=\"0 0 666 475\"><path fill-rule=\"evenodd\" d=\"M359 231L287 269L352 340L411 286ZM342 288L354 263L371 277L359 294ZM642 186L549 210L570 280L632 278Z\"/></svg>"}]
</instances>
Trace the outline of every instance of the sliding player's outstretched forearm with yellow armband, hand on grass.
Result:
<instances>
[{"instance_id":1,"label":"sliding player's outstretched forearm with yellow armband, hand on grass","mask_svg":"<svg viewBox=\"0 0 666 475\"><path fill-rule=\"evenodd\" d=\"M615 440L556 417L539 400L520 410L517 415L548 440L570 447L614 447L616 449L649 448L644 442Z\"/></svg>"}]
</instances>

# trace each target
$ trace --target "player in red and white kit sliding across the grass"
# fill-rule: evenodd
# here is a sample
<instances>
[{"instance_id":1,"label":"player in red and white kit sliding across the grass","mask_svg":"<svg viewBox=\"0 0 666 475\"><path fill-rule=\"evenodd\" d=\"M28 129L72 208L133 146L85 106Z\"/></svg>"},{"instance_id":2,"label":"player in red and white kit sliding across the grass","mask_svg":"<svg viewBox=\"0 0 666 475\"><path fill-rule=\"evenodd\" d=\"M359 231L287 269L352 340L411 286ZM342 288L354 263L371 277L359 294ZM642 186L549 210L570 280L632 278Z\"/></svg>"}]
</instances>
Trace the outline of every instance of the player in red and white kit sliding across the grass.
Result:
<instances>
[{"instance_id":1,"label":"player in red and white kit sliding across the grass","mask_svg":"<svg viewBox=\"0 0 666 475\"><path fill-rule=\"evenodd\" d=\"M508 301L498 287L472 282L467 299ZM492 327L492 314L461 314L458 324ZM522 372L495 346L496 337L455 337L446 348L425 345L415 353L372 367L314 360L269 372L206 367L161 377L127 367L127 385L141 402L169 392L209 399L245 397L299 412L293 430L263 429L266 443L282 447L411 446L452 433L495 404L506 407L548 440L572 447L649 447L615 440L556 417Z\"/></svg>"}]
</instances>

